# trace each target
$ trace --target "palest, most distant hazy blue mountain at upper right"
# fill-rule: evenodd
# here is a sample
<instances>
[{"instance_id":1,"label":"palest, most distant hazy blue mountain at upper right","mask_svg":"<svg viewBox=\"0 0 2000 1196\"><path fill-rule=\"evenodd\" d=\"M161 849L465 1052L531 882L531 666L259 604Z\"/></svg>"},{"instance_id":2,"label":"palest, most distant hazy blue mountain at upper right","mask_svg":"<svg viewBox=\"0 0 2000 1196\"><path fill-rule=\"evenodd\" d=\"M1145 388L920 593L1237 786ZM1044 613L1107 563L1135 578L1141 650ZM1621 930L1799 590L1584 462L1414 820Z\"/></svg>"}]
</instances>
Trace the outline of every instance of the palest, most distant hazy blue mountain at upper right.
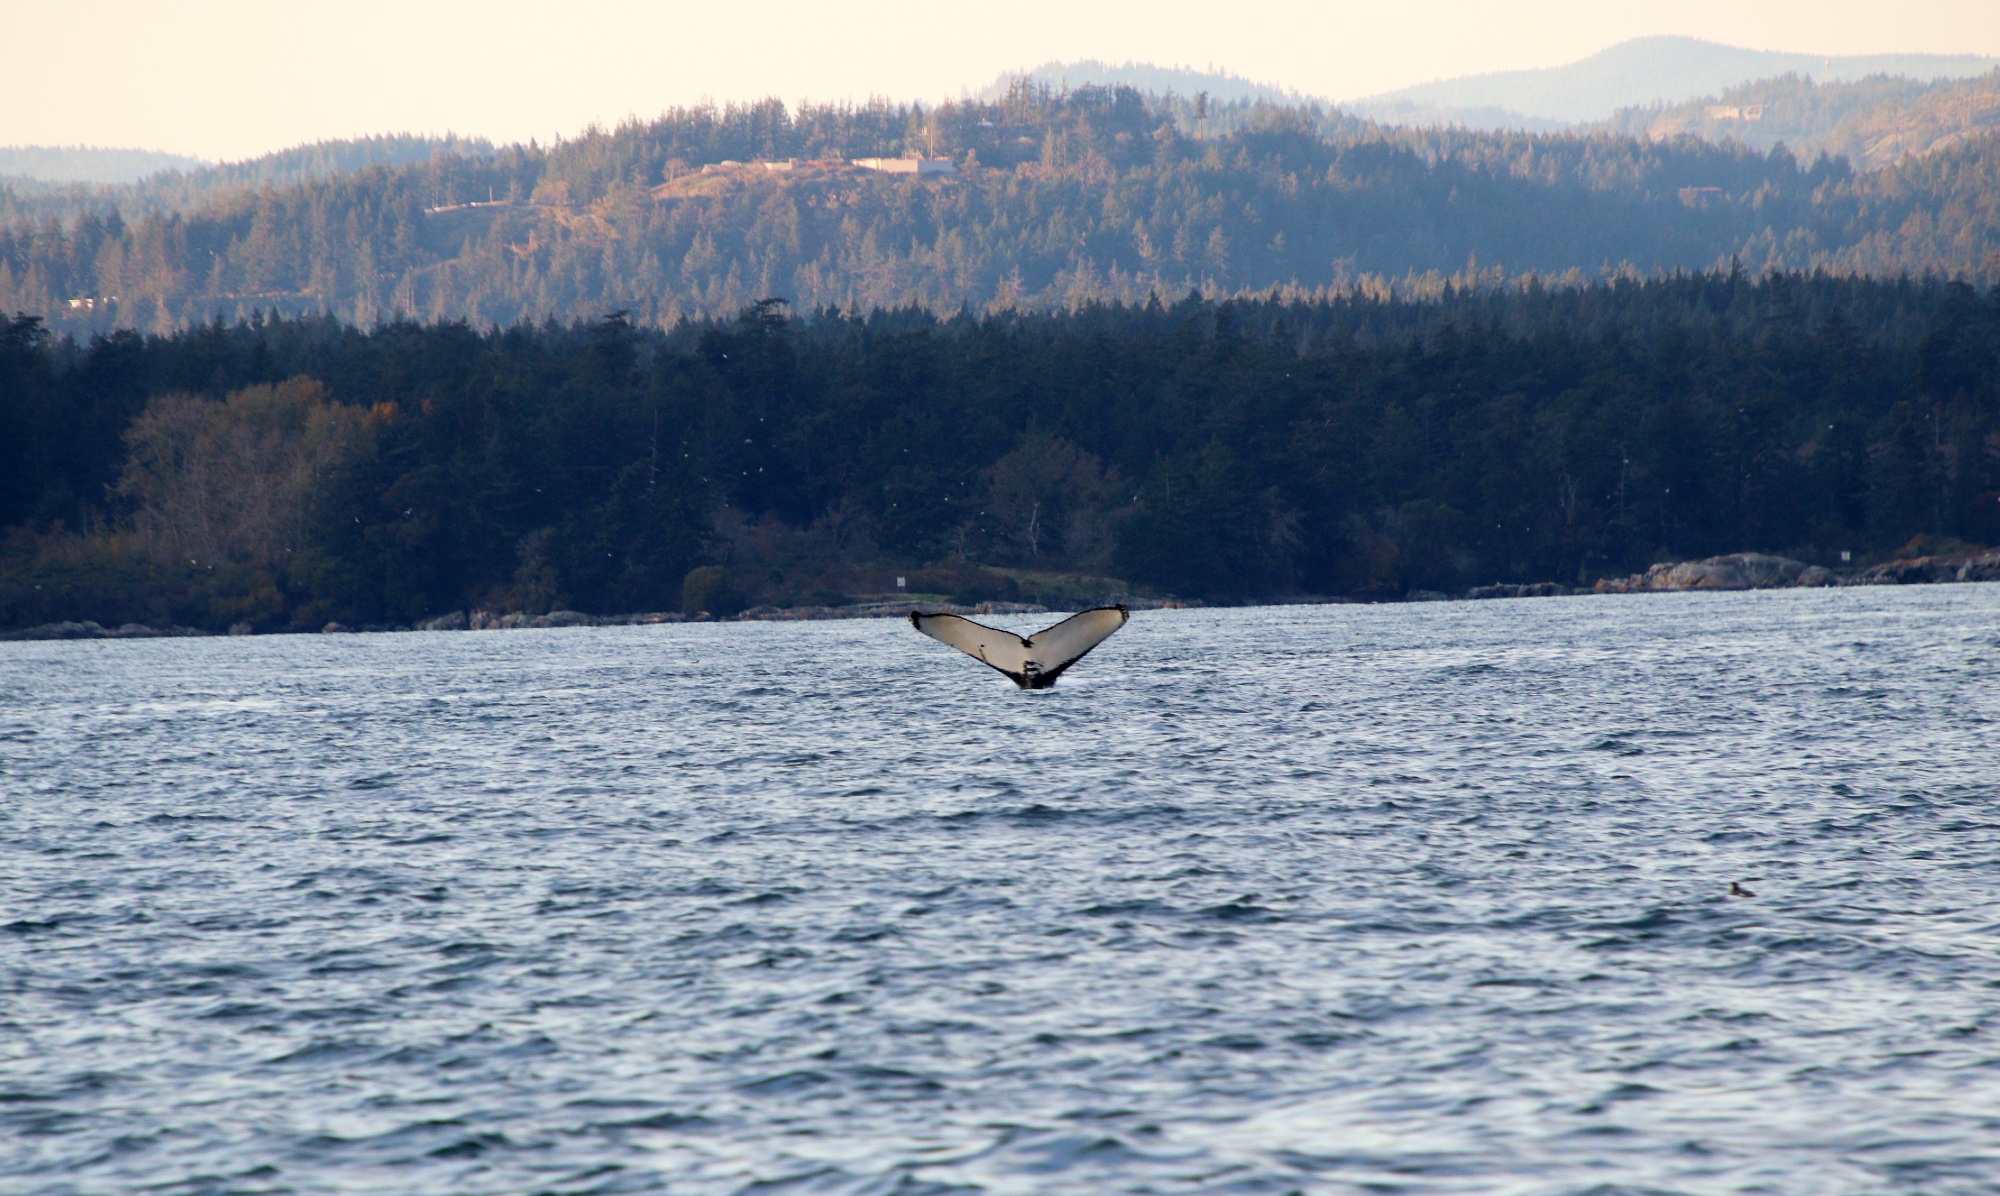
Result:
<instances>
[{"instance_id":1,"label":"palest, most distant hazy blue mountain at upper right","mask_svg":"<svg viewBox=\"0 0 2000 1196\"><path fill-rule=\"evenodd\" d=\"M1522 126L1526 122L1606 120L1620 108L1680 104L1756 78L1784 74L1818 82L1872 74L1916 80L1986 74L2000 58L1976 54L1820 56L1744 50L1698 38L1634 38L1568 66L1470 74L1400 88L1344 104L1348 112L1396 124L1460 122ZM1474 114L1486 110L1480 120ZM1498 112L1492 112L1498 110ZM1456 116L1452 116L1456 114Z\"/></svg>"}]
</instances>

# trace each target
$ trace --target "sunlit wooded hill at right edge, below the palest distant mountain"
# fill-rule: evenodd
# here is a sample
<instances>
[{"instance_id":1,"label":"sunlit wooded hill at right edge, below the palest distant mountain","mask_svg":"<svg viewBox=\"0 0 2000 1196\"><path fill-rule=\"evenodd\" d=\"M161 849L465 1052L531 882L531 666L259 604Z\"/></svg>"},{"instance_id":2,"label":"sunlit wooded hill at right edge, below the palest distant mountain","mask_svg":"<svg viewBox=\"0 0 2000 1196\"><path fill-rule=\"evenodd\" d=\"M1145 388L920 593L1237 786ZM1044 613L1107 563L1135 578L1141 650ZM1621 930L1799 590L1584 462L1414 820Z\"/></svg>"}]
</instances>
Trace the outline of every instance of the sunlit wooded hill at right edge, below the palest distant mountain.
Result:
<instances>
[{"instance_id":1,"label":"sunlit wooded hill at right edge, below the palest distant mountain","mask_svg":"<svg viewBox=\"0 0 2000 1196\"><path fill-rule=\"evenodd\" d=\"M1784 76L1690 104L1626 108L1594 128L1646 138L1736 140L1758 150L1782 142L1800 158L1830 154L1858 170L1876 170L2000 132L2000 70L1936 82Z\"/></svg>"}]
</instances>

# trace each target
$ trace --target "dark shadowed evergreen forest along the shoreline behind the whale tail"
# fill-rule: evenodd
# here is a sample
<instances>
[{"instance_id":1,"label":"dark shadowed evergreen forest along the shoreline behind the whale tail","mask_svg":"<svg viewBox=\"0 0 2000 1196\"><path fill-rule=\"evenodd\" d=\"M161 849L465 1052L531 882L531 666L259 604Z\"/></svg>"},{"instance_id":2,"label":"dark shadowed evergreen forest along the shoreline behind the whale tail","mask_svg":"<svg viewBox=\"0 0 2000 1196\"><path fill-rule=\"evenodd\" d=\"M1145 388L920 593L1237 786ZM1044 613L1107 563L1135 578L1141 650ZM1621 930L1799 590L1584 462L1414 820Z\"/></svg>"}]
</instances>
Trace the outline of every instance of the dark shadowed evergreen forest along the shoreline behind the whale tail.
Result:
<instances>
[{"instance_id":1,"label":"dark shadowed evergreen forest along the shoreline behind the whale tail","mask_svg":"<svg viewBox=\"0 0 2000 1196\"><path fill-rule=\"evenodd\" d=\"M12 626L730 610L890 574L1224 602L1832 564L2000 540L2000 292L1712 272L84 344L22 316L0 454Z\"/></svg>"}]
</instances>

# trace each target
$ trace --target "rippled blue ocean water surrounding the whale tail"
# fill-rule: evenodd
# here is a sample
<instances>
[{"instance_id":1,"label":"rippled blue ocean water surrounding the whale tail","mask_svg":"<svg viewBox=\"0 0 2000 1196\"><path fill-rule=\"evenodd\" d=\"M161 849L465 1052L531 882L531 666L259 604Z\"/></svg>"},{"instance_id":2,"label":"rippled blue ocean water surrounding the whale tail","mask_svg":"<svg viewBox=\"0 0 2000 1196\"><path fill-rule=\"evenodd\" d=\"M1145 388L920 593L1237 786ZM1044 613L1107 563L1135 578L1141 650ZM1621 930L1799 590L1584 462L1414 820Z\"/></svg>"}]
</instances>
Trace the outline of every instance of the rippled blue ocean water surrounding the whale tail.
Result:
<instances>
[{"instance_id":1,"label":"rippled blue ocean water surrounding the whale tail","mask_svg":"<svg viewBox=\"0 0 2000 1196\"><path fill-rule=\"evenodd\" d=\"M1038 694L0 644L0 1190L1990 1196L1996 666L2000 586L1142 612Z\"/></svg>"}]
</instances>

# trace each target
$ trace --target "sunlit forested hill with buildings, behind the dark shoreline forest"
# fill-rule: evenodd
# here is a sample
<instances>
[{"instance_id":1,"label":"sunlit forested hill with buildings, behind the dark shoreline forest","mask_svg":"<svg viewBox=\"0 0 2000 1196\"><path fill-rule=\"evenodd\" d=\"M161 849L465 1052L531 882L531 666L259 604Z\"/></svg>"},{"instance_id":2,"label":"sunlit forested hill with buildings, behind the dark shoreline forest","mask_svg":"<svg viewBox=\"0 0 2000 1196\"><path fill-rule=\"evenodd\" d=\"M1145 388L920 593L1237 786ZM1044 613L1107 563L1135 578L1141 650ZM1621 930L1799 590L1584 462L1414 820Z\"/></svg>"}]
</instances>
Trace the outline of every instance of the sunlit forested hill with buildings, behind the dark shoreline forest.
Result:
<instances>
[{"instance_id":1,"label":"sunlit forested hill with buildings, behind the dark shoreline forest","mask_svg":"<svg viewBox=\"0 0 2000 1196\"><path fill-rule=\"evenodd\" d=\"M948 156L956 172L848 164L898 154ZM624 310L672 328L774 294L798 310L948 314L1732 260L2000 276L1992 136L1854 172L1698 138L1394 130L1310 106L1026 82L994 102L698 108L554 146L204 182L170 204L156 192L116 210L0 194L14 212L0 310L78 332L252 312L486 328Z\"/></svg>"}]
</instances>

